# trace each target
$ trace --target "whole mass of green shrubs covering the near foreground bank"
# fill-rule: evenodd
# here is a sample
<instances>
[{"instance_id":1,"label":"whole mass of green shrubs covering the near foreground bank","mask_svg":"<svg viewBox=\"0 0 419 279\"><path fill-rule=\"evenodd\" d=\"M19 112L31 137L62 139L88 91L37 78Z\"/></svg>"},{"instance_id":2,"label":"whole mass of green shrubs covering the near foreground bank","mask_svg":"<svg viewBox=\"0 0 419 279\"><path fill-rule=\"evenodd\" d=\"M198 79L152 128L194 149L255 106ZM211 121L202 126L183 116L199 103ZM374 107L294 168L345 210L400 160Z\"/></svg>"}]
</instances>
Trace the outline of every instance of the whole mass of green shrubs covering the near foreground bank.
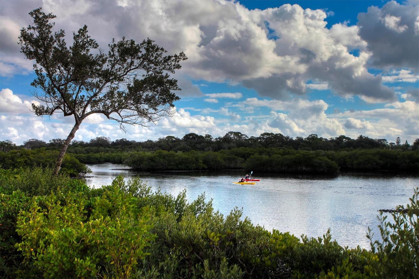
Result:
<instances>
[{"instance_id":1,"label":"whole mass of green shrubs covering the near foreground bank","mask_svg":"<svg viewBox=\"0 0 419 279\"><path fill-rule=\"evenodd\" d=\"M185 192L152 193L138 179L117 177L101 189L78 180L63 188L57 180L43 188L51 192L40 194L44 190L19 190L13 182L19 176L3 171L2 181L11 185L0 194L5 278L418 276L417 189L407 210L398 207L402 211L392 214L393 222L381 217L383 242L367 251L341 247L330 231L302 240L269 232L243 219L237 208L223 216L204 195L189 203Z\"/></svg>"}]
</instances>

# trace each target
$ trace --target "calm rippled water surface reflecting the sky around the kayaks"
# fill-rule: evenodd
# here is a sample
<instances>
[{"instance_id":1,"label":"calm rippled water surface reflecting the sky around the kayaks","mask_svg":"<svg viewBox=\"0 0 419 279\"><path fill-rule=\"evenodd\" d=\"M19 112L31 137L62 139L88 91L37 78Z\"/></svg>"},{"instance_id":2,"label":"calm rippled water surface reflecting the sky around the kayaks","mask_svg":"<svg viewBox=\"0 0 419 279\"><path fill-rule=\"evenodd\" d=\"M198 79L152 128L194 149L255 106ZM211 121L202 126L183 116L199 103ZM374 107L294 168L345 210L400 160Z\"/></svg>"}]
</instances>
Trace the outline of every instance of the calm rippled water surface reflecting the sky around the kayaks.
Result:
<instances>
[{"instance_id":1,"label":"calm rippled water surface reflecting the sky around the kayaks","mask_svg":"<svg viewBox=\"0 0 419 279\"><path fill-rule=\"evenodd\" d=\"M186 189L189 202L205 192L213 207L228 214L243 207L243 216L253 224L300 236L318 237L331 228L340 245L369 248L367 227L379 235L377 210L407 204L418 176L340 174L326 176L279 176L253 173L255 185L233 184L245 173L240 171L147 173L134 172L116 164L88 165L93 171L86 178L89 186L109 185L113 178L140 176L155 191L160 187L172 195ZM115 170L117 169L117 170Z\"/></svg>"}]
</instances>

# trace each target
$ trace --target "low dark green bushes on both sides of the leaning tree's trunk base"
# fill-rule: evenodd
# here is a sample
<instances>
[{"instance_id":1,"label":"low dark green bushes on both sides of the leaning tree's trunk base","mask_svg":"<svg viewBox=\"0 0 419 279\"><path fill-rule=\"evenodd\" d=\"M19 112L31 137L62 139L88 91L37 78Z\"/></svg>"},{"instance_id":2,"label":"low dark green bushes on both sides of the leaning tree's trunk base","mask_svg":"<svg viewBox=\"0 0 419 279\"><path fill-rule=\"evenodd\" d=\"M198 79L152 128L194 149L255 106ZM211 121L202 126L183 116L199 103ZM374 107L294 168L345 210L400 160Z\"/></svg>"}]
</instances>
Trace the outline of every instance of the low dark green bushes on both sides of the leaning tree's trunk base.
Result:
<instances>
[{"instance_id":1,"label":"low dark green bushes on both sides of the leaning tree's trunk base","mask_svg":"<svg viewBox=\"0 0 419 279\"><path fill-rule=\"evenodd\" d=\"M57 150L46 150L44 148L36 150L19 149L9 152L0 151L1 168L52 167L55 164L57 155ZM60 174L83 176L90 172L91 170L85 164L80 163L74 155L65 155Z\"/></svg>"}]
</instances>

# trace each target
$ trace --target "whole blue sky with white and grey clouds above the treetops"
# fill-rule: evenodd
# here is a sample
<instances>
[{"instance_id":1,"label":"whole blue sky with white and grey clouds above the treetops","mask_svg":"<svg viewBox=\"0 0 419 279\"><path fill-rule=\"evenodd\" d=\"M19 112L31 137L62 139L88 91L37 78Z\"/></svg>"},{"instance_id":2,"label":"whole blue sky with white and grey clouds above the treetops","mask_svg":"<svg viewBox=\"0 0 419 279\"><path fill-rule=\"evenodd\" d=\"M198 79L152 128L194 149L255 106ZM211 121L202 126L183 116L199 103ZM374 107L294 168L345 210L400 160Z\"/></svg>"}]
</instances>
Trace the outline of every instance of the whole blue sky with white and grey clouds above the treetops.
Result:
<instances>
[{"instance_id":1,"label":"whole blue sky with white and grey clouds above the treetops","mask_svg":"<svg viewBox=\"0 0 419 279\"><path fill-rule=\"evenodd\" d=\"M419 137L419 1L0 2L0 140L66 138L74 117L37 117L20 29L42 7L67 36L83 25L101 48L149 37L187 61L173 75L176 114L150 127L101 114L75 140L157 140L238 131L290 137ZM67 44L72 38L66 37Z\"/></svg>"}]
</instances>

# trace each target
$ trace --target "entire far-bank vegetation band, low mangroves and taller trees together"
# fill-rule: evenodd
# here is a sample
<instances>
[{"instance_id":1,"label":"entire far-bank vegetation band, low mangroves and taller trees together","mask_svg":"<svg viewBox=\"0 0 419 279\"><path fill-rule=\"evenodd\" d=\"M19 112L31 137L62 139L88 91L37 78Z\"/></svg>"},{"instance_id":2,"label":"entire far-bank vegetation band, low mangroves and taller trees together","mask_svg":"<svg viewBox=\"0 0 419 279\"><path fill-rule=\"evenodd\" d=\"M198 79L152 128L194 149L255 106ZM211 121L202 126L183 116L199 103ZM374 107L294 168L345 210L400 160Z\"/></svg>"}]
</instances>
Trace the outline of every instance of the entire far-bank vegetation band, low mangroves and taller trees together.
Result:
<instances>
[{"instance_id":1,"label":"entire far-bank vegetation band, low mangroves and taller trees together","mask_svg":"<svg viewBox=\"0 0 419 279\"><path fill-rule=\"evenodd\" d=\"M281 140L285 139L285 140ZM61 140L62 141L62 140ZM53 165L59 139L47 144L28 140L20 147L8 143L0 151L2 168ZM2 145L4 146L4 145ZM63 172L88 173L86 163L119 163L142 171L205 171L245 169L275 173L324 173L341 171L419 171L418 140L413 145L390 145L384 140L360 136L353 140L329 140L310 135L292 139L281 134L247 137L229 132L212 138L186 134L182 139L168 136L159 140L111 141L96 137L90 142L73 142L63 162Z\"/></svg>"}]
</instances>

